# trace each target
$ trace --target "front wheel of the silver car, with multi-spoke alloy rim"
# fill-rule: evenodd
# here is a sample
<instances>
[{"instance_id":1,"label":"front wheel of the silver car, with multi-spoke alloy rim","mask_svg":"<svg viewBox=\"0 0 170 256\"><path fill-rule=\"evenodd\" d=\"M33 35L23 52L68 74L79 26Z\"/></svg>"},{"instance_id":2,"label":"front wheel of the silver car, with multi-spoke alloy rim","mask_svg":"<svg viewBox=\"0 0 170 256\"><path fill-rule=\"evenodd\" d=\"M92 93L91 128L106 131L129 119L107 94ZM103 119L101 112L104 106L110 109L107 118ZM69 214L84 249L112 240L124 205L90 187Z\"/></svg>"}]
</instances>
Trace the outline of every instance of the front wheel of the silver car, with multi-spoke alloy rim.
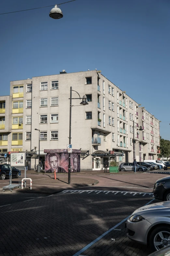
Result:
<instances>
[{"instance_id":1,"label":"front wheel of the silver car, with multi-spoke alloy rim","mask_svg":"<svg viewBox=\"0 0 170 256\"><path fill-rule=\"evenodd\" d=\"M149 237L149 245L152 251L158 251L163 247L170 245L170 228L167 226L157 227Z\"/></svg>"}]
</instances>

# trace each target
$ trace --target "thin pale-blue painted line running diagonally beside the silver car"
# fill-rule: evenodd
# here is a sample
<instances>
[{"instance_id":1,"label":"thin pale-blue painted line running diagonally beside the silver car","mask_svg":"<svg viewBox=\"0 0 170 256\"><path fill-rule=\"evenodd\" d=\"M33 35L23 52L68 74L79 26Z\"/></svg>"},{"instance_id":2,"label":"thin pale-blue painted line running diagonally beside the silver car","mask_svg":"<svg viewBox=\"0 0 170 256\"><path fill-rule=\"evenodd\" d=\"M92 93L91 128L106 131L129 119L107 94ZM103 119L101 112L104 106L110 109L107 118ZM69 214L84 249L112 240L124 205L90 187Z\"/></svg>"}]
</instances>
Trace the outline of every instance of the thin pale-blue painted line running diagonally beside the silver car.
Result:
<instances>
[{"instance_id":1,"label":"thin pale-blue painted line running diagonally beside the silver car","mask_svg":"<svg viewBox=\"0 0 170 256\"><path fill-rule=\"evenodd\" d=\"M150 200L147 204L145 204L144 206L150 204L154 199ZM99 237L97 237L95 240L93 240L90 244L86 245L85 247L83 247L81 250L79 250L78 252L76 252L73 256L79 256L82 255L80 253L86 251L89 247L91 247L93 244L95 244L96 242L98 242L100 239L102 239L105 235L107 235L108 233L110 233L112 230L115 230L115 228L119 227L123 222L125 222L128 218L130 217L127 216L125 219L123 219L122 221L120 221L118 224L116 224L114 227L112 227L111 229L107 230L106 232L104 232L102 235L100 235Z\"/></svg>"}]
</instances>

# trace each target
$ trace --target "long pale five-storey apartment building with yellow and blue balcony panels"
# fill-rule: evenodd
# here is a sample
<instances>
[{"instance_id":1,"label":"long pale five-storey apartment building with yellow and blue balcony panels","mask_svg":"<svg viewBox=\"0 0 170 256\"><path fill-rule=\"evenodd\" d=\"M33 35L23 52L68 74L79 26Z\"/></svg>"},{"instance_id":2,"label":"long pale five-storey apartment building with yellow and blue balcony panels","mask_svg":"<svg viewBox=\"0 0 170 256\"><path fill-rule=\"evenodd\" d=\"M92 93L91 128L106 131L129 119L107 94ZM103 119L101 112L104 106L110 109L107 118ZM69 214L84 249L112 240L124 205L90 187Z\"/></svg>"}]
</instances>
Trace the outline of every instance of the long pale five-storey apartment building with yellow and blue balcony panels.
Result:
<instances>
[{"instance_id":1,"label":"long pale five-storey apartment building with yellow and blue balcony panels","mask_svg":"<svg viewBox=\"0 0 170 256\"><path fill-rule=\"evenodd\" d=\"M44 149L66 148L69 142L70 86L81 98L86 95L88 101L88 105L82 106L79 99L72 100L71 144L72 148L81 149L81 170L102 169L106 159L132 162L133 137L137 160L140 157L141 160L142 157L157 157L159 136L149 137L153 143L143 140L145 129L139 131L143 108L97 70L76 73L63 70L58 75L12 81L10 96L0 97L2 125L5 122L2 134L7 134L7 137L4 135L7 145L2 144L2 152L26 151L31 167L34 168L38 161L36 155L39 143L39 131L35 129L40 130L42 161L45 157ZM72 98L77 98L78 94L74 91ZM146 116L149 112L145 112ZM155 127L156 124L159 127L158 120L153 116L152 119ZM147 121L144 128L149 123ZM152 129L156 132L154 126L151 123L149 125L150 131ZM153 135L149 133L149 136ZM155 151L146 151L146 144ZM137 145L142 145L143 151Z\"/></svg>"}]
</instances>

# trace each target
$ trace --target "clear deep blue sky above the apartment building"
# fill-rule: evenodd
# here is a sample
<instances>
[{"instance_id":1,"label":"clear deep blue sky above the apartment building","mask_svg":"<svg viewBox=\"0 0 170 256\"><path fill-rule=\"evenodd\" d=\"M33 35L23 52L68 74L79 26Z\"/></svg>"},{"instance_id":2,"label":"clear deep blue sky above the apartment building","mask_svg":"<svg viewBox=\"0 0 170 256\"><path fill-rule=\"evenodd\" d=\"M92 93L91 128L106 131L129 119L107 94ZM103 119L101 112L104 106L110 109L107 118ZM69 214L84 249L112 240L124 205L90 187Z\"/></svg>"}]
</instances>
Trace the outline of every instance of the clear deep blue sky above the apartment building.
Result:
<instances>
[{"instance_id":1,"label":"clear deep blue sky above the apartment building","mask_svg":"<svg viewBox=\"0 0 170 256\"><path fill-rule=\"evenodd\" d=\"M0 12L59 2L2 1ZM51 8L0 15L0 95L12 80L97 68L161 120L170 140L170 1L77 0L61 5L60 20Z\"/></svg>"}]
</instances>

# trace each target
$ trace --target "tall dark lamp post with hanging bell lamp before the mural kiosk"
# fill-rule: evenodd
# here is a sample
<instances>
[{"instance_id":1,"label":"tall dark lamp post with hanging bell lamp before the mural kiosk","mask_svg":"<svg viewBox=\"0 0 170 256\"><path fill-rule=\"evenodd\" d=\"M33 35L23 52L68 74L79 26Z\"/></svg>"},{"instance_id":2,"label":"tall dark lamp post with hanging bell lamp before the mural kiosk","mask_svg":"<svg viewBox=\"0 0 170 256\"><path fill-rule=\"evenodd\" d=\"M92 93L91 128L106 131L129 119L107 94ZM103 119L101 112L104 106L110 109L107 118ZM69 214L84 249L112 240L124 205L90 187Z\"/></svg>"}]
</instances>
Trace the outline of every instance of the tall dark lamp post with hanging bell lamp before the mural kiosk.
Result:
<instances>
[{"instance_id":1,"label":"tall dark lamp post with hanging bell lamp before the mural kiosk","mask_svg":"<svg viewBox=\"0 0 170 256\"><path fill-rule=\"evenodd\" d=\"M72 98L72 87L70 87L70 124L69 124L69 144L71 144L71 108L72 108L72 99L82 99L82 102L80 103L80 105L88 105L89 103L86 101L86 96L84 95L83 98L80 97L79 93L76 92L79 96L79 98ZM71 161L70 161L70 157L71 157L71 153L68 153L68 184L70 184L70 174L71 174Z\"/></svg>"}]
</instances>

